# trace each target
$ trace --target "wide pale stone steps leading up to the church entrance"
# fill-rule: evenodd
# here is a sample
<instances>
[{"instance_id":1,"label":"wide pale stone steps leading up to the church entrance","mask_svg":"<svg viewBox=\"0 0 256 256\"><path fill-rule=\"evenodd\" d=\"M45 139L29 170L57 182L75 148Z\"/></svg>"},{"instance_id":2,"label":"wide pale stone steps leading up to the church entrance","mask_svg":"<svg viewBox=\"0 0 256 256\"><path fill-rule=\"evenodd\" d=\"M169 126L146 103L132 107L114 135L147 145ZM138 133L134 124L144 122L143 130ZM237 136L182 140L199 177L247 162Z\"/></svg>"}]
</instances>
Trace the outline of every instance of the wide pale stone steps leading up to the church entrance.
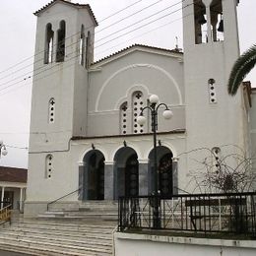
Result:
<instances>
[{"instance_id":1,"label":"wide pale stone steps leading up to the church entrance","mask_svg":"<svg viewBox=\"0 0 256 256\"><path fill-rule=\"evenodd\" d=\"M45 213L36 219L16 218L11 225L0 226L0 249L38 256L113 255L112 239L117 223L111 218L105 221L105 217L113 214L115 207L109 209L103 204L97 207L85 204L79 211L55 209L54 214Z\"/></svg>"}]
</instances>

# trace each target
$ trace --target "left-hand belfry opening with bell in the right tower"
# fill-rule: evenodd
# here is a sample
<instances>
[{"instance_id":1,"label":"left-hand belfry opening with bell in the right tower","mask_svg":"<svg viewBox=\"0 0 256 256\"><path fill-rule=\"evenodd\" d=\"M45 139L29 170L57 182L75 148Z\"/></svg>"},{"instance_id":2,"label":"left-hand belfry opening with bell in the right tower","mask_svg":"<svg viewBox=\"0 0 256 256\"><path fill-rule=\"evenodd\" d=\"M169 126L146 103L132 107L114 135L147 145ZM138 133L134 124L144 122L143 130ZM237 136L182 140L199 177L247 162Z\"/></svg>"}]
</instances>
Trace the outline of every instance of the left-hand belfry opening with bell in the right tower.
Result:
<instances>
[{"instance_id":1,"label":"left-hand belfry opening with bell in the right tower","mask_svg":"<svg viewBox=\"0 0 256 256\"><path fill-rule=\"evenodd\" d=\"M194 0L195 43L208 42L206 6L202 0Z\"/></svg>"}]
</instances>

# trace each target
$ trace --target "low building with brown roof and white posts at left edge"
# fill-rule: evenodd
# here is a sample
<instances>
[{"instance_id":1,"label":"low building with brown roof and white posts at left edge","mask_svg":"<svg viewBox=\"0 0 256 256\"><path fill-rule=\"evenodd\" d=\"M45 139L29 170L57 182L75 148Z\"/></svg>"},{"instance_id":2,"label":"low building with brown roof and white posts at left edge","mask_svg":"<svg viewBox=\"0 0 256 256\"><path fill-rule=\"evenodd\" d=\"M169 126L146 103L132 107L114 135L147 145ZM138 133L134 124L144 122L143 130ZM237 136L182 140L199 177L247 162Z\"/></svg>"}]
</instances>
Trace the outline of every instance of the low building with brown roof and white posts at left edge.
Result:
<instances>
[{"instance_id":1,"label":"low building with brown roof and white posts at left edge","mask_svg":"<svg viewBox=\"0 0 256 256\"><path fill-rule=\"evenodd\" d=\"M27 179L28 169L0 166L1 208L12 204L12 209L23 211Z\"/></svg>"}]
</instances>

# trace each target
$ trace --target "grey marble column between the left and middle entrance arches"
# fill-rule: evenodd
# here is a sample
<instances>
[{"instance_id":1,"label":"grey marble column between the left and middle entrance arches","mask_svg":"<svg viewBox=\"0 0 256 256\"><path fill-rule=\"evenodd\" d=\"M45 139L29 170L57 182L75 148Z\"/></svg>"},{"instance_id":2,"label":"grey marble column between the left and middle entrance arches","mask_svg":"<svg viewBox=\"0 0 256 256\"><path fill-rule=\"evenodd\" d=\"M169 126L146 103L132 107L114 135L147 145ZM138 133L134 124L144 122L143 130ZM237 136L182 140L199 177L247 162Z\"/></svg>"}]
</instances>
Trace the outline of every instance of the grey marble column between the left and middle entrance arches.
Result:
<instances>
[{"instance_id":1,"label":"grey marble column between the left and middle entrance arches","mask_svg":"<svg viewBox=\"0 0 256 256\"><path fill-rule=\"evenodd\" d=\"M114 199L114 161L105 160L104 166L104 199Z\"/></svg>"}]
</instances>

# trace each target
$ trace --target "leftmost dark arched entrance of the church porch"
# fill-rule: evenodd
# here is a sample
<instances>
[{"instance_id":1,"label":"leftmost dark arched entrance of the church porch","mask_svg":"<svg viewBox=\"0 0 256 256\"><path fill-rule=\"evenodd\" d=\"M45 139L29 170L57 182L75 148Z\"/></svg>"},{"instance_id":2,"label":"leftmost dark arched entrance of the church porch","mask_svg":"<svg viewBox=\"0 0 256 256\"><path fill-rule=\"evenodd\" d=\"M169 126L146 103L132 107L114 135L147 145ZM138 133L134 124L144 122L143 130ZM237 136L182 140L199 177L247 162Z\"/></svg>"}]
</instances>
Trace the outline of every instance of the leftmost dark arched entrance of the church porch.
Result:
<instances>
[{"instance_id":1,"label":"leftmost dark arched entrance of the church porch","mask_svg":"<svg viewBox=\"0 0 256 256\"><path fill-rule=\"evenodd\" d=\"M84 157L84 200L104 199L104 156L92 150Z\"/></svg>"}]
</instances>

